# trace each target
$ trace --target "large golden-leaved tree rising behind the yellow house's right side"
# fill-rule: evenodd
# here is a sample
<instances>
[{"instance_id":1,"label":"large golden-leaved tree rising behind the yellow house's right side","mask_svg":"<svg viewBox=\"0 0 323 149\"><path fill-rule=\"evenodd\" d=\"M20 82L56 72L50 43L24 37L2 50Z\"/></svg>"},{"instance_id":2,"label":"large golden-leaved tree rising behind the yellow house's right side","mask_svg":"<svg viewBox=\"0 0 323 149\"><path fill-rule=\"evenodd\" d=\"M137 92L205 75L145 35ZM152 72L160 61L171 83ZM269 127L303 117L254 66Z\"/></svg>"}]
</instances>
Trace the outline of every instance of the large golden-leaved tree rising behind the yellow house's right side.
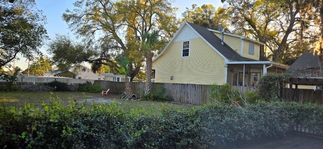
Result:
<instances>
[{"instance_id":1,"label":"large golden-leaved tree rising behind the yellow house's right side","mask_svg":"<svg viewBox=\"0 0 323 149\"><path fill-rule=\"evenodd\" d=\"M311 26L313 20L300 16L306 1L224 1L233 11L231 23L236 29L235 33L265 43L269 51L267 58L273 61L283 62L284 58L294 56L293 51L299 48L296 45L308 45L306 43L315 40L315 36L311 36L316 32L315 27ZM301 46L301 51L311 48L305 45ZM262 46L260 53L264 55L264 52Z\"/></svg>"}]
</instances>

